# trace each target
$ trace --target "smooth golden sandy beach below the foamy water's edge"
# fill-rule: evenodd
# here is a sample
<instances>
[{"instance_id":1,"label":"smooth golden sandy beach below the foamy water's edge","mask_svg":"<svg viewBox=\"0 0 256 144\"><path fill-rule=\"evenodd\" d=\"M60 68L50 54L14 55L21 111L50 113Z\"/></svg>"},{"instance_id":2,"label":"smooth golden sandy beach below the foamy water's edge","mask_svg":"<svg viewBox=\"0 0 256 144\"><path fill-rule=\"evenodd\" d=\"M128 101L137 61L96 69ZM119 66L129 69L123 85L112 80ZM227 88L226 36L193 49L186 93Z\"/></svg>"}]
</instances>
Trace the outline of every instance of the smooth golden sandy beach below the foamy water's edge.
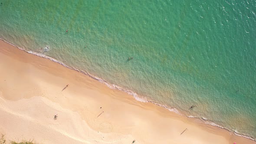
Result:
<instances>
[{"instance_id":1,"label":"smooth golden sandy beach below the foamy water's edge","mask_svg":"<svg viewBox=\"0 0 256 144\"><path fill-rule=\"evenodd\" d=\"M39 144L256 144L2 40L0 134Z\"/></svg>"}]
</instances>

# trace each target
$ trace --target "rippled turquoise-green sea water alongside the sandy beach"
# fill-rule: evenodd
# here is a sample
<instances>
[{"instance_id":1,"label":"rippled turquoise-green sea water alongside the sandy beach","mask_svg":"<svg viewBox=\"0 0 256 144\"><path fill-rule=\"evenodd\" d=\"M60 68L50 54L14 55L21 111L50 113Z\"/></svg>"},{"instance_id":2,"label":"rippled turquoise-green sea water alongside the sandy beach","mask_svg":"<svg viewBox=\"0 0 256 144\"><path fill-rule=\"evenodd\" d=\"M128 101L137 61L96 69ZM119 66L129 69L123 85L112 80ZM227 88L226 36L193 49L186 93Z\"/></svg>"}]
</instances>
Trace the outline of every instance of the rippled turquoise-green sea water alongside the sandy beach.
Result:
<instances>
[{"instance_id":1,"label":"rippled turquoise-green sea water alongside the sandy beach","mask_svg":"<svg viewBox=\"0 0 256 144\"><path fill-rule=\"evenodd\" d=\"M255 0L0 2L1 39L256 138Z\"/></svg>"}]
</instances>

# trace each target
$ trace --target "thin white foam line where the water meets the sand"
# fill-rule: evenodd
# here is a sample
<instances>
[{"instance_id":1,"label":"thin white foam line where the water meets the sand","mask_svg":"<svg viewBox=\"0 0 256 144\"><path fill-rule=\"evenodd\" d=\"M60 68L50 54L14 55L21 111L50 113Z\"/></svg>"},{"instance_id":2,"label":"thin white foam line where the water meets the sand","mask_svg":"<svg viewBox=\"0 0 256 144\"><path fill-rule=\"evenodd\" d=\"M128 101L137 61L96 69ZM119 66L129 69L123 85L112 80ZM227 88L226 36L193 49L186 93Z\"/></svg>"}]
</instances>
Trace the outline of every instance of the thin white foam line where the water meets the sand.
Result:
<instances>
[{"instance_id":1,"label":"thin white foam line where the water meets the sand","mask_svg":"<svg viewBox=\"0 0 256 144\"><path fill-rule=\"evenodd\" d=\"M0 38L0 39L1 39L1 38ZM131 90L127 90L127 89L124 89L124 88L121 88L121 87L119 87L119 86L117 86L117 85L115 85L115 84L110 84L110 83L108 83L107 81L105 81L104 79L100 79L100 78L98 78L98 77L96 77L96 76L94 76L94 75L89 74L88 72L85 72L85 71L82 71L82 70L79 70L79 69L72 68L72 67L70 67L69 65L64 64L63 62L60 62L60 61L58 61L58 60L56 60L56 59L53 59L53 58L51 58L51 57L49 57L49 56L46 56L46 55L42 54L42 53L33 52L33 51L26 51L26 50L24 50L23 48L20 48L20 47L18 47L18 46L15 46L15 45L13 45L12 43L9 43L9 42L7 42L7 41L4 40L4 39L1 39L1 40L3 40L5 43L8 43L8 44L10 44L10 45L12 45L12 46L14 46L14 47L16 47L16 48L18 48L18 49L21 49L21 50L25 51L25 52L28 52L28 53L30 53L30 54L33 54L33 55L36 55L36 56L40 56L40 57L49 59L49 60L51 60L51 61L53 61L53 62L57 62L57 63L59 63L59 64L65 66L66 68L69 68L69 69L75 70L75 71L77 71L77 72L81 72L81 73L83 73L83 74L85 74L85 75L88 75L88 76L91 77L92 79L95 79L95 80L97 80L98 82L101 82L101 83L105 84L106 86L108 86L108 88L111 88L111 89L118 89L118 90L120 90L120 91L126 92L126 93L128 93L129 95L132 95L137 101L141 101L141 102L151 102L151 103L153 103L153 104L155 104L155 105L161 106L161 107L163 107L163 108L167 108L169 111L172 111L172 112L174 112L174 113L176 113L176 114L182 115L182 114L177 110L177 108L169 108L169 107L167 107L166 105L159 104L159 103L157 103L157 102L155 102L155 101L150 101L150 100L148 100L147 98L138 97L138 95L137 95L135 92L132 92ZM185 116L185 115L183 115L183 116ZM188 117L188 118L197 118L197 117L194 117L194 116L191 116L191 115L190 115L190 116L186 116L186 117ZM224 127L222 127L222 126L220 126L220 125L218 125L218 124L215 124L213 121L210 121L210 120L208 120L207 118L198 118L198 119L200 119L201 121L203 121L205 124L210 124L210 125L213 125L213 126L216 126L216 127L219 127L219 128L223 128L223 129L225 129L225 130L227 130L227 131L229 131L229 132L232 132L232 133L236 134L237 136L245 137L245 138L248 138L248 139L250 139L250 140L256 141L256 139L253 139L253 138L250 137L250 136L246 136L246 135L244 135L244 134L240 134L240 133L238 133L238 132L236 132L236 131L231 131L231 130L229 130L229 129L227 129L227 128L224 128Z\"/></svg>"}]
</instances>

